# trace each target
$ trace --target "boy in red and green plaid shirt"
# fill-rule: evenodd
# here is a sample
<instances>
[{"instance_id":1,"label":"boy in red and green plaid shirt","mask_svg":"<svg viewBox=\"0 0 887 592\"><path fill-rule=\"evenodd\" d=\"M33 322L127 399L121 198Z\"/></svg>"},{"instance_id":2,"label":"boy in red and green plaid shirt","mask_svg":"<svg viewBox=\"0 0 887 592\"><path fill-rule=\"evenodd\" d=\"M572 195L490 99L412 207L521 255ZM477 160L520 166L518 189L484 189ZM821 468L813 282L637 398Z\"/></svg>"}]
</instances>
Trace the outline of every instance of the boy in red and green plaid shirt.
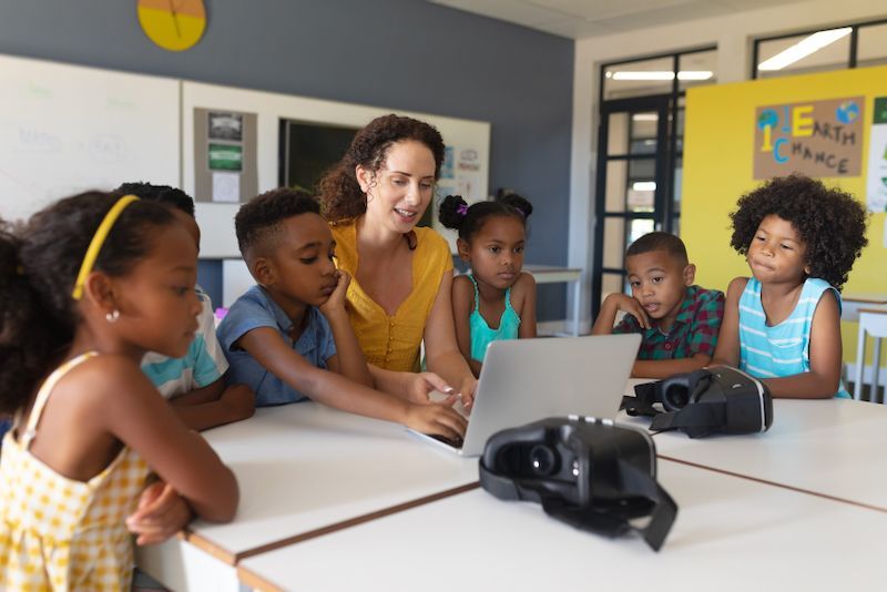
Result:
<instances>
[{"instance_id":1,"label":"boy in red and green plaid shirt","mask_svg":"<svg viewBox=\"0 0 887 592\"><path fill-rule=\"evenodd\" d=\"M592 335L640 333L632 376L665 378L712 361L724 316L724 294L693 285L696 266L675 235L650 233L629 246L625 269L632 295L610 294ZM625 316L613 326L616 313Z\"/></svg>"}]
</instances>

